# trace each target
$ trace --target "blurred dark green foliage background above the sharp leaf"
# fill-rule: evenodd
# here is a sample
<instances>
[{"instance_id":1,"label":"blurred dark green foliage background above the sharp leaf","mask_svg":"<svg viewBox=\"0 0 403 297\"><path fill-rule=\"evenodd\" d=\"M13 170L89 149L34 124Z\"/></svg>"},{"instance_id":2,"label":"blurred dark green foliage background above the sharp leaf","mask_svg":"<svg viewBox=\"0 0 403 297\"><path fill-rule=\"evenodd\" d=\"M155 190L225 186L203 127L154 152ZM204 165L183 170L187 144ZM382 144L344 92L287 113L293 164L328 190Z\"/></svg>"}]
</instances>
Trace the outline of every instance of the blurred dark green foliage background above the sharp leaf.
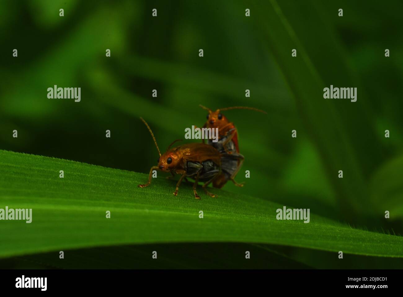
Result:
<instances>
[{"instance_id":1,"label":"blurred dark green foliage background above the sharp leaf","mask_svg":"<svg viewBox=\"0 0 403 297\"><path fill-rule=\"evenodd\" d=\"M237 176L245 186L225 190L403 234L402 8L398 0L1 1L0 149L147 173L158 154L139 116L164 151L186 127L202 126L199 104L256 107L268 115L224 113L245 156ZM81 102L48 99L54 84L81 87ZM330 84L357 87L357 102L323 99Z\"/></svg>"}]
</instances>

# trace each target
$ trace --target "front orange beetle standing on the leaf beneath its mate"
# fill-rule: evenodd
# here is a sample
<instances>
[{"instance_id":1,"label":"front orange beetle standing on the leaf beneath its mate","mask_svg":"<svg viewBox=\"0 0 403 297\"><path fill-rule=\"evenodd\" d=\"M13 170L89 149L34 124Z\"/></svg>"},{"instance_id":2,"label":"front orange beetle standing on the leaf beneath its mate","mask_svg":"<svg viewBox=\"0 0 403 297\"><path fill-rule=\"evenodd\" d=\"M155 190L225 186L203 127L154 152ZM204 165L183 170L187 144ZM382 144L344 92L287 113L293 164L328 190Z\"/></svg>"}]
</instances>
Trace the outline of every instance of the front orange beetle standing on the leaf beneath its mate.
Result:
<instances>
[{"instance_id":1,"label":"front orange beetle standing on the leaf beneath its mate","mask_svg":"<svg viewBox=\"0 0 403 297\"><path fill-rule=\"evenodd\" d=\"M166 152L161 155L157 141L155 140L150 126L148 126L147 122L145 122L143 118L140 119L144 122L145 126L147 126L148 131L150 131L160 158L158 159L158 166L151 167L150 174L148 175L148 182L138 186L149 186L151 184L152 172L154 170L160 170L170 172L172 177L174 176L174 173L181 175L176 185L174 192L175 196L178 195L179 185L181 184L182 180L186 177L190 177L195 180L195 183L193 184L193 192L196 199L200 199L200 196L196 192L196 187L199 181L205 181L202 186L204 192L211 197L215 197L214 194L207 191L206 187L221 172L220 152L218 152L211 145L204 143L189 143L170 149L171 145L178 141L177 139L173 141L168 146Z\"/></svg>"}]
</instances>

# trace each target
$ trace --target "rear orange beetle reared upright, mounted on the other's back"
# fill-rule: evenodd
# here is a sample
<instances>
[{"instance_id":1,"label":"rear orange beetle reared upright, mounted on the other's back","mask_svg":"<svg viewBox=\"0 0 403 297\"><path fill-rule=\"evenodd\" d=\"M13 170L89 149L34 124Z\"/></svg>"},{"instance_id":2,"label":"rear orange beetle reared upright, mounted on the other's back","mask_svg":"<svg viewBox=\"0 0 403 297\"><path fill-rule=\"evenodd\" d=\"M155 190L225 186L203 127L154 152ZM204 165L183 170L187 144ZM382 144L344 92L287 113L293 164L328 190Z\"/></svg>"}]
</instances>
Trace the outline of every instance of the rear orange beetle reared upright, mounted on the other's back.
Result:
<instances>
[{"instance_id":1,"label":"rear orange beetle reared upright, mounted on the other's back","mask_svg":"<svg viewBox=\"0 0 403 297\"><path fill-rule=\"evenodd\" d=\"M234 179L239 169L241 169L242 163L245 159L243 155L239 153L237 128L234 123L230 122L223 114L221 114L221 112L224 110L247 109L262 112L264 114L267 113L263 110L244 106L220 108L215 112L203 105L199 106L208 110L207 121L203 128L218 128L218 141L212 142L211 139L208 139L208 144L215 147L221 153L222 172L213 180L213 187L221 188L228 180L231 180L235 185L242 187L243 184L237 183Z\"/></svg>"}]
</instances>

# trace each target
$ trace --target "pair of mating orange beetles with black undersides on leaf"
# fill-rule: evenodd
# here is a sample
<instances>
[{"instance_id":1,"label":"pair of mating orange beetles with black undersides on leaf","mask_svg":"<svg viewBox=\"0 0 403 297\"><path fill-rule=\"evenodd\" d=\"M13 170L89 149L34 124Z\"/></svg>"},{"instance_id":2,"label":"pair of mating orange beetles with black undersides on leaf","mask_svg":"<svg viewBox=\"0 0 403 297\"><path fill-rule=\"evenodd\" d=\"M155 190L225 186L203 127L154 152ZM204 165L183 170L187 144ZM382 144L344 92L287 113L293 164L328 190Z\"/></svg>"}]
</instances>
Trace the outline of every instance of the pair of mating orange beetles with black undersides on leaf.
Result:
<instances>
[{"instance_id":1,"label":"pair of mating orange beetles with black undersides on leaf","mask_svg":"<svg viewBox=\"0 0 403 297\"><path fill-rule=\"evenodd\" d=\"M203 127L218 128L218 141L214 143L211 139L208 139L208 144L205 144L203 139L203 143L190 143L170 149L171 145L178 141L175 140L162 155L150 126L141 118L154 139L160 158L158 159L158 166L151 167L148 182L139 185L139 187L150 185L154 170L170 172L172 177L174 173L181 175L176 185L175 196L178 194L179 185L186 177L195 180L193 183L193 192L196 199L200 199L200 196L196 192L199 181L204 181L202 188L211 197L215 197L215 195L206 189L210 183L213 183L213 187L221 188L227 181L231 180L235 185L243 186L243 184L239 184L234 180L244 160L244 157L239 154L237 129L220 112L231 109L249 109L263 113L266 112L252 107L239 106L222 108L213 112L207 107L200 106L209 111L207 121Z\"/></svg>"}]
</instances>

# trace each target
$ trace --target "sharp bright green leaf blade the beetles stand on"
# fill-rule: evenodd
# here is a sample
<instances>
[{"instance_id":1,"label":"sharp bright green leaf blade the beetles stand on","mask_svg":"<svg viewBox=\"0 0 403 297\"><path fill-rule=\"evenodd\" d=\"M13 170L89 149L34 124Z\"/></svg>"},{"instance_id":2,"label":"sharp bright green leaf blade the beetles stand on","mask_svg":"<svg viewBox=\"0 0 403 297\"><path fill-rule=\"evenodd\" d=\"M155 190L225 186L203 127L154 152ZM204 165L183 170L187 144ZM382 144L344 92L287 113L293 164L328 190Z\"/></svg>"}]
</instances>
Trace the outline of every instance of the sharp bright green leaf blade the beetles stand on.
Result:
<instances>
[{"instance_id":1,"label":"sharp bright green leaf blade the beetles stand on","mask_svg":"<svg viewBox=\"0 0 403 297\"><path fill-rule=\"evenodd\" d=\"M59 178L59 171L64 178ZM0 257L94 246L245 242L359 255L403 257L401 236L352 229L314 215L276 219L283 205L212 189L193 198L183 183L56 158L0 150L0 208L32 209L32 223L0 221ZM243 187L247 194L247 184ZM111 218L106 219L106 211ZM199 218L199 211L204 218Z\"/></svg>"}]
</instances>

